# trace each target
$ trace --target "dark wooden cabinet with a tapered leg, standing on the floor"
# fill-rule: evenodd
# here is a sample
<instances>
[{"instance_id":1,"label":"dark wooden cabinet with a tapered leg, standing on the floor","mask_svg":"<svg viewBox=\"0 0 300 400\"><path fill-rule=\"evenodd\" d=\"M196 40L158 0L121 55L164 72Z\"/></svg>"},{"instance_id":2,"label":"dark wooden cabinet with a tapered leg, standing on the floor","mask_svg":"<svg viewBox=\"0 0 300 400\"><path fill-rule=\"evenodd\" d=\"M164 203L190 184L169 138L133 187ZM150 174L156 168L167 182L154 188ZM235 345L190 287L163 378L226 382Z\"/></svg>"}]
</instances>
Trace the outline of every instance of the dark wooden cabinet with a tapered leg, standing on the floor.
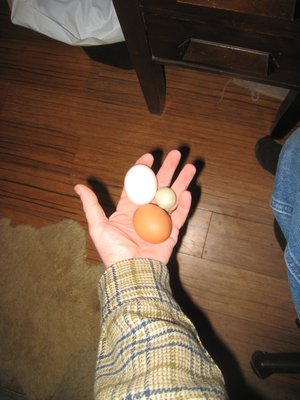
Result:
<instances>
[{"instance_id":1,"label":"dark wooden cabinet with a tapered leg, standing on the floor","mask_svg":"<svg viewBox=\"0 0 300 400\"><path fill-rule=\"evenodd\" d=\"M285 87L300 107L297 0L113 1L150 112L163 110L167 64Z\"/></svg>"}]
</instances>

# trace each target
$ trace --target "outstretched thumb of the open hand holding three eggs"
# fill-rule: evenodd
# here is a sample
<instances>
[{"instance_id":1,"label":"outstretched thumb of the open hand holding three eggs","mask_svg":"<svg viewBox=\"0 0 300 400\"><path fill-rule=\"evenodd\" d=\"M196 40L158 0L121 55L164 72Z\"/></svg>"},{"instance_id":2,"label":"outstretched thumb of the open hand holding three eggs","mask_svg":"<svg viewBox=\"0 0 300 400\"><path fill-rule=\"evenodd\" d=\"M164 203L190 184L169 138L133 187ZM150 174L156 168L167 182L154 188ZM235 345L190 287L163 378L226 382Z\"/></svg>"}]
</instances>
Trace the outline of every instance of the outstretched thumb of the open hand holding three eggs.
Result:
<instances>
[{"instance_id":1,"label":"outstretched thumb of the open hand holding three eggs","mask_svg":"<svg viewBox=\"0 0 300 400\"><path fill-rule=\"evenodd\" d=\"M91 189L84 185L76 185L74 190L80 197L87 219L89 232L92 239L94 239L95 232L99 234L104 228L107 222L107 217L98 202L97 196Z\"/></svg>"}]
</instances>

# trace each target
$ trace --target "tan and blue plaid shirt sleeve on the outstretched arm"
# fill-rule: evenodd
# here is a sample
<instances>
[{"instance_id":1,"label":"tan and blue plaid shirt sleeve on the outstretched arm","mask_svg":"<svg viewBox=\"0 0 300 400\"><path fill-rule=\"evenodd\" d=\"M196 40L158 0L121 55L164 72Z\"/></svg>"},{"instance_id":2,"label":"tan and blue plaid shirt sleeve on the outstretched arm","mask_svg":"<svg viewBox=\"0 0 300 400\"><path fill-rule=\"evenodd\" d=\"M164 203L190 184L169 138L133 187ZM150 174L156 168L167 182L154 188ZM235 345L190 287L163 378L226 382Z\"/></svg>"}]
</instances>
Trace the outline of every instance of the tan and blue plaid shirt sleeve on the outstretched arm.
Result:
<instances>
[{"instance_id":1,"label":"tan and blue plaid shirt sleeve on the outstretched arm","mask_svg":"<svg viewBox=\"0 0 300 400\"><path fill-rule=\"evenodd\" d=\"M119 262L99 289L96 399L227 398L219 368L172 296L165 265Z\"/></svg>"}]
</instances>

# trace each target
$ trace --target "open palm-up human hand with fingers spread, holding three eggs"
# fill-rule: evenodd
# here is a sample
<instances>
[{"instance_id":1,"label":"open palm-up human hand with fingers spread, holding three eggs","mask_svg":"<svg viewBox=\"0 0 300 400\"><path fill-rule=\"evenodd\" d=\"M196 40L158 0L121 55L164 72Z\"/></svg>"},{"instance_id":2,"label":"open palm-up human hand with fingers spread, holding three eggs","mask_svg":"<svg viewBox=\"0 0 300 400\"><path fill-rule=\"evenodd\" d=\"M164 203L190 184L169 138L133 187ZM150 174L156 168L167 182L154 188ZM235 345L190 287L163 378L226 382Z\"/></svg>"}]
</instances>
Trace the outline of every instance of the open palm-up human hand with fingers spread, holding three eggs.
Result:
<instances>
[{"instance_id":1,"label":"open palm-up human hand with fingers spread, holding three eggs","mask_svg":"<svg viewBox=\"0 0 300 400\"><path fill-rule=\"evenodd\" d=\"M156 177L158 188L171 184L181 154L172 150L165 158ZM153 156L149 153L140 157L136 164L153 165ZM121 194L116 211L107 218L95 193L84 185L76 185L75 191L80 196L89 227L89 234L106 267L118 261L130 258L151 258L167 264L177 243L179 230L185 223L191 206L191 194L187 191L196 173L192 164L186 164L172 184L177 196L177 207L171 213L172 232L162 243L151 244L141 239L133 227L133 214L137 205L132 203L125 190Z\"/></svg>"}]
</instances>

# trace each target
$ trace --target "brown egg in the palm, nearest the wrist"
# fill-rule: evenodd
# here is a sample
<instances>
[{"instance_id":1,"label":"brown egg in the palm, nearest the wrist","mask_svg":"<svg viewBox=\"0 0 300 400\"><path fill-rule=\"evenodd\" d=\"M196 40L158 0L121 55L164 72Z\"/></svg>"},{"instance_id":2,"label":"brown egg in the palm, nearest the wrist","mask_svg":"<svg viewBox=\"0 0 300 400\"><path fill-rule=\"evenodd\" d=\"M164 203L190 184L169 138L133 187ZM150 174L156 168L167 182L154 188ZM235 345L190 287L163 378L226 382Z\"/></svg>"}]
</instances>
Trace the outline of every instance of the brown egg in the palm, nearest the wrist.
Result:
<instances>
[{"instance_id":1,"label":"brown egg in the palm, nearest the wrist","mask_svg":"<svg viewBox=\"0 0 300 400\"><path fill-rule=\"evenodd\" d=\"M161 243L168 239L172 231L170 215L155 204L138 207L133 215L136 233L150 243Z\"/></svg>"}]
</instances>

